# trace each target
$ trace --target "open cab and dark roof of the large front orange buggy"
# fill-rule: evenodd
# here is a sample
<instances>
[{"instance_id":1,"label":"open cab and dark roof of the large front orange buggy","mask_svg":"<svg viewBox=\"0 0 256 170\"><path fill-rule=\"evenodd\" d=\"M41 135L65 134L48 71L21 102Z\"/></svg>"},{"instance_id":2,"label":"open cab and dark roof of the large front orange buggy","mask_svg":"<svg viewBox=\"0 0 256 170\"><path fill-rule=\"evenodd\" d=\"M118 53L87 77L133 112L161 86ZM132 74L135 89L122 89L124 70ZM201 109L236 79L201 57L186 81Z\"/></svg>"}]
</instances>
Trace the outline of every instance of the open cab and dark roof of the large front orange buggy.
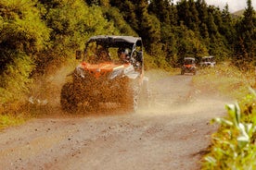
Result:
<instances>
[{"instance_id":1,"label":"open cab and dark roof of the large front orange buggy","mask_svg":"<svg viewBox=\"0 0 256 170\"><path fill-rule=\"evenodd\" d=\"M89 63L100 63L103 60L114 62L129 60L133 64L139 62L141 65L142 50L140 37L99 35L91 37L85 44L83 60Z\"/></svg>"}]
</instances>

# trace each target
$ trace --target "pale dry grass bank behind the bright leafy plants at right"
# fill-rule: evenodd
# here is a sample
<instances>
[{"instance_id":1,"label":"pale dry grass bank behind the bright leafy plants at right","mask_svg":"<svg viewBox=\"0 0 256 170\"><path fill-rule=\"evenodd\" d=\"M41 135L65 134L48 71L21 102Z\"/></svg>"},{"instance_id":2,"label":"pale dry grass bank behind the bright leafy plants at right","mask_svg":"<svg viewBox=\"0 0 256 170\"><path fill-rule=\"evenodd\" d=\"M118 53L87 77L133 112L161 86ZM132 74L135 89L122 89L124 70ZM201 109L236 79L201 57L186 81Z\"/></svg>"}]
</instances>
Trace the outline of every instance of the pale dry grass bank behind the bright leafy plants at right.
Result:
<instances>
[{"instance_id":1,"label":"pale dry grass bank behind the bright leafy plants at right","mask_svg":"<svg viewBox=\"0 0 256 170\"><path fill-rule=\"evenodd\" d=\"M241 99L249 88L256 88L255 70L241 71L229 62L221 63L214 68L198 71L193 84L202 91L220 92L233 99Z\"/></svg>"}]
</instances>

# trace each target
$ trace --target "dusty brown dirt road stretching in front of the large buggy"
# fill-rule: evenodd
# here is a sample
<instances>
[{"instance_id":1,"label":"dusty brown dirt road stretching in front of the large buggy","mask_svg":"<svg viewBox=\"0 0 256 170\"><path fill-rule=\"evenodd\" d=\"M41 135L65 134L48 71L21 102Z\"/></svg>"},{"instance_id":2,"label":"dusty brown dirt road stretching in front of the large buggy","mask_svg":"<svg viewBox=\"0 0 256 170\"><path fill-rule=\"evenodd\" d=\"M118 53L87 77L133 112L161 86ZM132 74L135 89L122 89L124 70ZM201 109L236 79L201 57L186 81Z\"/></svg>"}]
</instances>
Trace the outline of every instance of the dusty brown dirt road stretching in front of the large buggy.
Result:
<instances>
[{"instance_id":1,"label":"dusty brown dirt road stretching in front of the large buggy","mask_svg":"<svg viewBox=\"0 0 256 170\"><path fill-rule=\"evenodd\" d=\"M149 108L47 116L0 133L0 169L199 169L227 101L191 86L193 76L151 82Z\"/></svg>"}]
</instances>

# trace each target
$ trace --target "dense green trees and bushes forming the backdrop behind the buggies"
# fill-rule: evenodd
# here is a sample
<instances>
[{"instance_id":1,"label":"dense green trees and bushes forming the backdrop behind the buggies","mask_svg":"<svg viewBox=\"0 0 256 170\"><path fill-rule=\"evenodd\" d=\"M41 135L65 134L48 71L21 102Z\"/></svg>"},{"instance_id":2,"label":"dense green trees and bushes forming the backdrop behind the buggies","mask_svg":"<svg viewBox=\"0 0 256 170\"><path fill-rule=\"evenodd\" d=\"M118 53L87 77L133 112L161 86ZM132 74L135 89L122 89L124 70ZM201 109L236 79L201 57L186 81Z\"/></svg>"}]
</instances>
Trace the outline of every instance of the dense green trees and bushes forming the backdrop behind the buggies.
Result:
<instances>
[{"instance_id":1,"label":"dense green trees and bushes forming the backdrop behind the buggies","mask_svg":"<svg viewBox=\"0 0 256 170\"><path fill-rule=\"evenodd\" d=\"M214 55L241 69L256 65L256 14L204 0L1 0L0 113L28 95L36 77L57 69L93 35L143 39L146 69L178 67L185 56Z\"/></svg>"}]
</instances>

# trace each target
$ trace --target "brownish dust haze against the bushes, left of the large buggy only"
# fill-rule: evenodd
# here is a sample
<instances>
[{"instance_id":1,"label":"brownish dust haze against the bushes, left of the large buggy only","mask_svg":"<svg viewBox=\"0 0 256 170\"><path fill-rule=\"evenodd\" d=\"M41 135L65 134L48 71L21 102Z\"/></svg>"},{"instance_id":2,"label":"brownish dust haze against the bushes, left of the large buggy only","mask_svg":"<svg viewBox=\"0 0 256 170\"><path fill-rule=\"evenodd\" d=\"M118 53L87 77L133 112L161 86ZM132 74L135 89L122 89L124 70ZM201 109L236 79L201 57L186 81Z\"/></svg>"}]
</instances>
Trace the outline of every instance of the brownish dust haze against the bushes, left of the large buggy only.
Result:
<instances>
[{"instance_id":1,"label":"brownish dust haze against the bushes, left of the large buggy only","mask_svg":"<svg viewBox=\"0 0 256 170\"><path fill-rule=\"evenodd\" d=\"M70 79L67 75L74 67L74 63L68 63L53 73L34 78L34 85L28 95L28 109L32 115L64 115L59 103L60 91L67 79Z\"/></svg>"}]
</instances>

